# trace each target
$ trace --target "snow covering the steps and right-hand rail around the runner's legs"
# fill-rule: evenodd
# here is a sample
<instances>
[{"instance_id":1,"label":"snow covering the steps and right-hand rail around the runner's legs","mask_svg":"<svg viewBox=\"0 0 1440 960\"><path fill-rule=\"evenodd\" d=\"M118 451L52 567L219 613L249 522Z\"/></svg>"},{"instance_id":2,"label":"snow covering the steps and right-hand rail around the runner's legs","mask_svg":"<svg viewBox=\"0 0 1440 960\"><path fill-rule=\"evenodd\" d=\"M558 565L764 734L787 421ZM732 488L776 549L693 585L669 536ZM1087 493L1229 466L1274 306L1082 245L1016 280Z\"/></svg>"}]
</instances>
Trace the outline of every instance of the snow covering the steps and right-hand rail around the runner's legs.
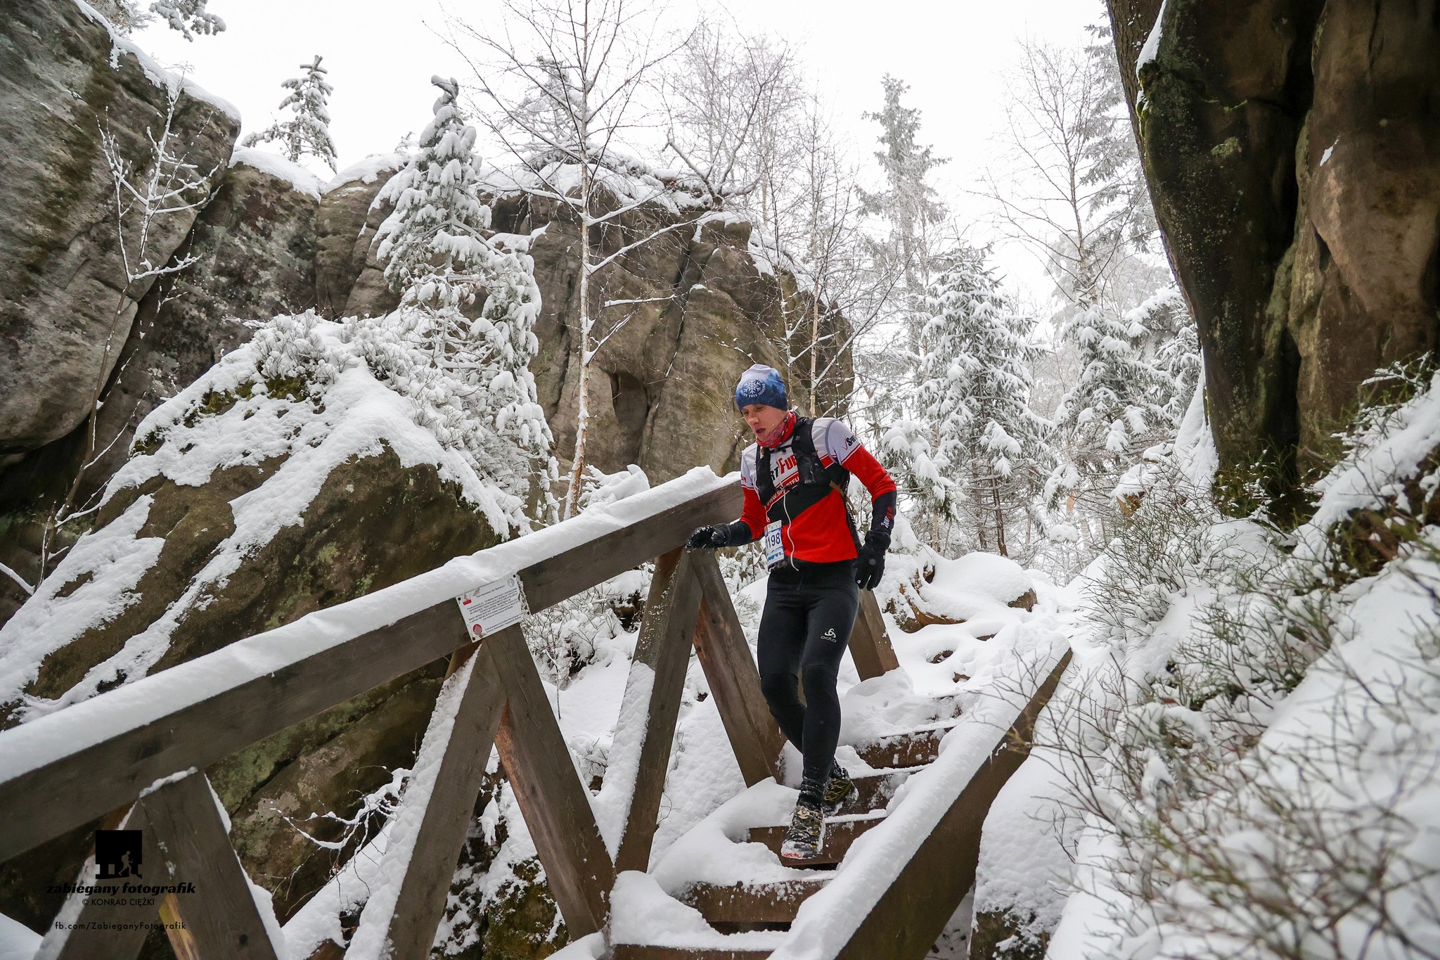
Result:
<instances>
[{"instance_id":1,"label":"snow covering the steps and right-hand rail around the runner's legs","mask_svg":"<svg viewBox=\"0 0 1440 960\"><path fill-rule=\"evenodd\" d=\"M914 577L920 564L897 560L887 577ZM773 947L778 957L821 957L850 937L858 920L989 756L1008 728L1017 704L1034 689L1035 678L1048 674L1066 649L1060 623L1053 615L1032 615L1007 606L1035 586L1017 564L984 554L953 561L932 557L930 563L935 566L933 583L917 587L922 609L930 613L943 610L945 616L968 613L975 625L965 629L969 623L936 623L906 633L899 630L893 616L886 615L903 669L864 682L852 678L841 684L845 724L841 740L863 744L886 734L952 725L942 740L940 760L906 780L891 799L886 820L857 841L847 862L832 874L786 868L763 843L743 842L750 826L788 823L796 790L773 780L742 790L737 773L732 773L729 796L727 790L713 789L714 799L710 802L714 806L696 826L672 841L665 832L668 825L662 826L662 838L657 838L652 856L652 885L636 875L626 881L626 895L616 895L612 904L615 943L747 948L752 944L698 924L698 914L675 900L661 901L658 894L677 897L696 882L753 884L804 875L832 877L834 882L806 901L789 934L772 934L763 944L753 946ZM888 586L890 593L899 590L896 583ZM1048 592L1048 584L1044 589ZM742 593L763 597L763 581ZM981 640L976 635L989 639ZM937 649L952 649L952 658L929 664ZM971 671L962 681L953 678L956 665ZM912 671L920 678L913 678ZM960 708L959 720L953 718L955 707ZM714 748L733 767L719 723L714 724ZM868 770L851 746L841 748L840 759L852 770ZM706 789L701 786L706 780L696 769L688 770L684 779L672 773L667 783L683 783L688 790ZM958 923L963 930L950 931L950 940L963 943L969 925L968 907Z\"/></svg>"}]
</instances>

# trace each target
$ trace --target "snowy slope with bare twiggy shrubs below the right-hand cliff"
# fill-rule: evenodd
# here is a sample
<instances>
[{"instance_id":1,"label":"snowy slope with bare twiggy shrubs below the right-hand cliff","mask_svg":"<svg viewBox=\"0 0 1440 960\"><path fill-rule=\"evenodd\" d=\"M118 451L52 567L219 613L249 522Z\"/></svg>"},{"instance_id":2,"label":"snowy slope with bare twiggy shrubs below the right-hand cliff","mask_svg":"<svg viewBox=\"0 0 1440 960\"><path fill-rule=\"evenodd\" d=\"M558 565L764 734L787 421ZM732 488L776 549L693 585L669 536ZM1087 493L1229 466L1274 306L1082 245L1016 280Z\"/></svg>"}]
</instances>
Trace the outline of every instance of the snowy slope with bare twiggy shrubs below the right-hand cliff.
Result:
<instances>
[{"instance_id":1,"label":"snowy slope with bare twiggy shrubs below the right-hand cliff","mask_svg":"<svg viewBox=\"0 0 1440 960\"><path fill-rule=\"evenodd\" d=\"M1211 518L1151 613L1071 615L1050 712L1089 715L1066 730L1084 829L1053 960L1440 953L1440 534L1364 579L1335 553L1356 508L1414 530L1401 481L1433 495L1440 379L1418 386L1362 419L1293 534ZM1136 574L1106 566L1074 587Z\"/></svg>"}]
</instances>

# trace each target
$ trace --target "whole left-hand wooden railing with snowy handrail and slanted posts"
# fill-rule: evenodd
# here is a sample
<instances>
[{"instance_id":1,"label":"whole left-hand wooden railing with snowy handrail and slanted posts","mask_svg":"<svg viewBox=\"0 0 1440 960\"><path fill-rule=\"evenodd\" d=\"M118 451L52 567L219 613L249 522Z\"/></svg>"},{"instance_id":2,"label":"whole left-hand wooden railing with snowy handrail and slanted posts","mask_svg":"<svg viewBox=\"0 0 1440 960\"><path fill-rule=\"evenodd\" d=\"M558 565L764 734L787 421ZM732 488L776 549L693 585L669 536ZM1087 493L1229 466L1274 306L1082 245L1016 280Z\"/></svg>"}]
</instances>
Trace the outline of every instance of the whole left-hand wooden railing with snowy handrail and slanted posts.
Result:
<instances>
[{"instance_id":1,"label":"whole left-hand wooden railing with snowy handrail and slanted posts","mask_svg":"<svg viewBox=\"0 0 1440 960\"><path fill-rule=\"evenodd\" d=\"M426 957L494 746L572 937L599 930L618 869L645 869L691 645L747 783L775 776L780 735L716 558L691 530L740 511L740 485L706 468L236 642L0 733L0 861L104 819L140 829L145 884L179 956L278 960L275 920L229 846L197 770L442 656L449 672L347 956ZM539 612L635 566L655 574L625 692L634 789L615 856L550 708L523 625L474 642L455 597L518 576ZM851 638L861 676L896 665L874 597ZM613 771L612 771L613 773ZM157 869L161 868L161 869ZM94 858L78 887L95 885ZM138 953L154 907L73 894L37 957ZM183 928L181 928L183 927Z\"/></svg>"}]
</instances>

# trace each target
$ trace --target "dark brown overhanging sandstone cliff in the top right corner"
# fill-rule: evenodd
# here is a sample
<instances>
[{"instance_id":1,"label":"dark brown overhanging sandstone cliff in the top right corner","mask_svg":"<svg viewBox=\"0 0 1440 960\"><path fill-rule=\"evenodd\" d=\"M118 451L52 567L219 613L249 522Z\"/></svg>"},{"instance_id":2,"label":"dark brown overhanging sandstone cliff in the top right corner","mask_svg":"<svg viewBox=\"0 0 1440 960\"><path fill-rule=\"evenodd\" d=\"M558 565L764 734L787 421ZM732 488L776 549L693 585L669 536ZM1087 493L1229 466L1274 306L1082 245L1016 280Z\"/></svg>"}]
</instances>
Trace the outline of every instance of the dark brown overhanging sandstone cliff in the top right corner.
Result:
<instances>
[{"instance_id":1,"label":"dark brown overhanging sandstone cliff in the top right corner","mask_svg":"<svg viewBox=\"0 0 1440 960\"><path fill-rule=\"evenodd\" d=\"M1440 343L1440 7L1109 7L1223 463L1293 484L1377 367Z\"/></svg>"}]
</instances>

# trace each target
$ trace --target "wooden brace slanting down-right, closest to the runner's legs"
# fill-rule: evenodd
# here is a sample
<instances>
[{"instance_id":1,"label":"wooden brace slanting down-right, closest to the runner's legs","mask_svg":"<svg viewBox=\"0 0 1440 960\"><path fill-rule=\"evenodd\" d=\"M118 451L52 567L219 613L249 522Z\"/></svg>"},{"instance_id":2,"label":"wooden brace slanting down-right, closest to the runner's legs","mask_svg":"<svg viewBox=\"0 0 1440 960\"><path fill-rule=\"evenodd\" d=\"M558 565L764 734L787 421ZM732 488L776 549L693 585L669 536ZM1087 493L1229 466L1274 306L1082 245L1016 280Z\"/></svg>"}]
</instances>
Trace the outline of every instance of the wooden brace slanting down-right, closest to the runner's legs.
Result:
<instances>
[{"instance_id":1,"label":"wooden brace slanting down-right, closest to the runner's legs","mask_svg":"<svg viewBox=\"0 0 1440 960\"><path fill-rule=\"evenodd\" d=\"M785 735L760 692L760 671L755 666L750 645L744 642L720 564L714 553L697 550L690 558L690 569L700 581L703 596L696 653L730 737L730 748L740 763L740 776L747 787L766 777L779 780Z\"/></svg>"}]
</instances>

